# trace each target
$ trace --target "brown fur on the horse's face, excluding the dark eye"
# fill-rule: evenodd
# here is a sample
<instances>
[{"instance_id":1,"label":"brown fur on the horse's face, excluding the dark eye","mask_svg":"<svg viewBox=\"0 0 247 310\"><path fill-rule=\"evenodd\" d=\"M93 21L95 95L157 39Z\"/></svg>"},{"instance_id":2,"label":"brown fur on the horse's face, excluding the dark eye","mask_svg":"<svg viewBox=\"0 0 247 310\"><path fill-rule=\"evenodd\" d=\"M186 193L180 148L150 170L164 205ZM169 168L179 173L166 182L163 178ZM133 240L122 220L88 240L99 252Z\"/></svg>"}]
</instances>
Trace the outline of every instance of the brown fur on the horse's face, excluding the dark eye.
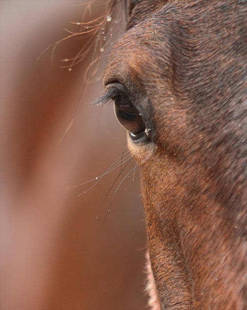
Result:
<instances>
[{"instance_id":1,"label":"brown fur on the horse's face, excluding the dark eye","mask_svg":"<svg viewBox=\"0 0 247 310\"><path fill-rule=\"evenodd\" d=\"M108 57L106 88L120 83L151 128L128 143L162 309L247 307L246 8L130 0Z\"/></svg>"}]
</instances>

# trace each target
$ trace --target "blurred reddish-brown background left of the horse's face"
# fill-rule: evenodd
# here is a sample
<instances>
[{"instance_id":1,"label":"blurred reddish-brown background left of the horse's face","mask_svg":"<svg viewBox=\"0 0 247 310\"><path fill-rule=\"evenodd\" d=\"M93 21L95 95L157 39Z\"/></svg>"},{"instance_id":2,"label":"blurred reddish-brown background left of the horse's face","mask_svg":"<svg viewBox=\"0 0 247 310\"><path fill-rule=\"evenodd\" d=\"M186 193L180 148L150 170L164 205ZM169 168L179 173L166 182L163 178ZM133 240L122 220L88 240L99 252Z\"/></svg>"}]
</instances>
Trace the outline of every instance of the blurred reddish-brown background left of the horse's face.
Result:
<instances>
[{"instance_id":1,"label":"blurred reddish-brown background left of the horse's face","mask_svg":"<svg viewBox=\"0 0 247 310\"><path fill-rule=\"evenodd\" d=\"M88 38L61 43L54 65L51 49L37 61L64 28L76 31L70 22L81 21L85 2L0 2L2 310L146 307L138 173L112 200L135 163L107 197L120 168L86 194L91 183L67 189L102 175L127 147L111 104L89 104L103 90L101 80L85 85L90 60L60 68Z\"/></svg>"}]
</instances>

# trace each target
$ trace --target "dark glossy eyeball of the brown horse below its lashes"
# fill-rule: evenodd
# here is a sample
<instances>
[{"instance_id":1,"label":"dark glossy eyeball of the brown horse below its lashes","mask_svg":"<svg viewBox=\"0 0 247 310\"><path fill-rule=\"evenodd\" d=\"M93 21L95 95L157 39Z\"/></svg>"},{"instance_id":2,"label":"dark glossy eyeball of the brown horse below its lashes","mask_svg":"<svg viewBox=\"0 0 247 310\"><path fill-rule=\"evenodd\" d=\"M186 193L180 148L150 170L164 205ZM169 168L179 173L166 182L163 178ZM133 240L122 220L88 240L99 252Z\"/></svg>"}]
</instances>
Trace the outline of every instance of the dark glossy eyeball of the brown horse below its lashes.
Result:
<instances>
[{"instance_id":1,"label":"dark glossy eyeball of the brown horse below its lashes","mask_svg":"<svg viewBox=\"0 0 247 310\"><path fill-rule=\"evenodd\" d=\"M119 124L130 132L133 139L144 134L145 124L142 117L127 97L118 95L115 98L114 112Z\"/></svg>"}]
</instances>

